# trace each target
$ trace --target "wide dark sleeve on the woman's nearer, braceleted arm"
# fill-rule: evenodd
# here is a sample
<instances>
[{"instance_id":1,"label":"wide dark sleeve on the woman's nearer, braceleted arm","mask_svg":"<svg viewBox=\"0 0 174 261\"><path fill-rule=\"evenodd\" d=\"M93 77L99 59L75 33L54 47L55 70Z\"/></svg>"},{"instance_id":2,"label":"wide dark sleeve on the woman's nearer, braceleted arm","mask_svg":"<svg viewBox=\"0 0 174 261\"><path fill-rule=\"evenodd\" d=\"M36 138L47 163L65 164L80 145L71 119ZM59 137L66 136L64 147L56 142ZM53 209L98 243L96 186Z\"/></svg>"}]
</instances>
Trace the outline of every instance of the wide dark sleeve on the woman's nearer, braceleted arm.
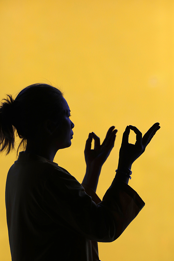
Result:
<instances>
[{"instance_id":1,"label":"wide dark sleeve on the woman's nearer, braceleted arm","mask_svg":"<svg viewBox=\"0 0 174 261\"><path fill-rule=\"evenodd\" d=\"M68 171L53 171L43 190L43 206L52 221L98 242L116 240L144 205L134 189L116 179L96 204Z\"/></svg>"}]
</instances>

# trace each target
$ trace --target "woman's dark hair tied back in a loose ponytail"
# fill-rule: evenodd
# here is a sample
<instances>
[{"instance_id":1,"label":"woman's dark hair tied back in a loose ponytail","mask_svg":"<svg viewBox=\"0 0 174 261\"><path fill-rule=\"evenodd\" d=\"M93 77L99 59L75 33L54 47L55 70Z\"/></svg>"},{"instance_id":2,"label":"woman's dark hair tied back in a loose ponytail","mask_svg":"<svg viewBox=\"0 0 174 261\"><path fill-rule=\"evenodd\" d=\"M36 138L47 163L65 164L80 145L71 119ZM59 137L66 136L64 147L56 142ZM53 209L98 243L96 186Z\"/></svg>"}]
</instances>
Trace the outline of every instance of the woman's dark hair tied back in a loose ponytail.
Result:
<instances>
[{"instance_id":1,"label":"woman's dark hair tied back in a loose ponytail","mask_svg":"<svg viewBox=\"0 0 174 261\"><path fill-rule=\"evenodd\" d=\"M21 140L17 148L23 145L26 149L27 139L37 139L39 133L45 130L50 135L60 126L63 116L62 100L63 93L48 84L32 84L22 89L15 99L11 94L6 102L1 101L0 105L0 152L10 150L15 147L15 132ZM51 133L47 128L46 121L50 120L55 126Z\"/></svg>"}]
</instances>

